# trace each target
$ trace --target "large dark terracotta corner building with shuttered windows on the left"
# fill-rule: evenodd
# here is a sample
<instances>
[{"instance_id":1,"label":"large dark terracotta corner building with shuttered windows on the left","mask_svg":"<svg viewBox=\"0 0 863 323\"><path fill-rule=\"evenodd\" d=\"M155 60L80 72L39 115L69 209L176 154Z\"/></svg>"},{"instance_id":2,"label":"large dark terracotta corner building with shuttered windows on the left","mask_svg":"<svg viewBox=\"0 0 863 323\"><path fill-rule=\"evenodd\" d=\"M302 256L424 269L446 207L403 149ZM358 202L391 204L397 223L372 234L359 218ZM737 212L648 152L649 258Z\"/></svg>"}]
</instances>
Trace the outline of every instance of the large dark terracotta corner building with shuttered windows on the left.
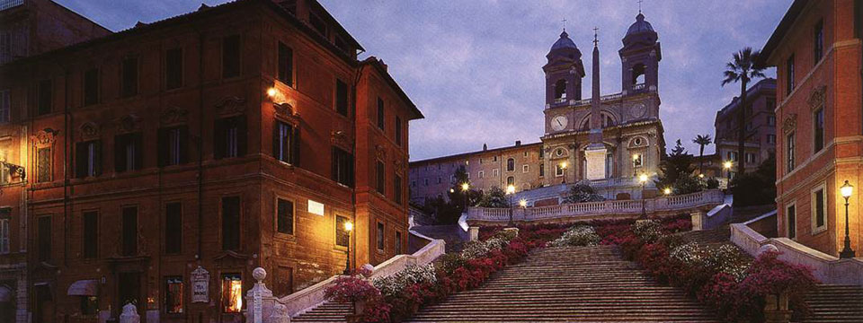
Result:
<instances>
[{"instance_id":1,"label":"large dark terracotta corner building with shuttered windows on the left","mask_svg":"<svg viewBox=\"0 0 863 323\"><path fill-rule=\"evenodd\" d=\"M314 0L238 0L0 66L31 321L241 321L254 267L284 296L405 252L423 116L360 50Z\"/></svg>"}]
</instances>

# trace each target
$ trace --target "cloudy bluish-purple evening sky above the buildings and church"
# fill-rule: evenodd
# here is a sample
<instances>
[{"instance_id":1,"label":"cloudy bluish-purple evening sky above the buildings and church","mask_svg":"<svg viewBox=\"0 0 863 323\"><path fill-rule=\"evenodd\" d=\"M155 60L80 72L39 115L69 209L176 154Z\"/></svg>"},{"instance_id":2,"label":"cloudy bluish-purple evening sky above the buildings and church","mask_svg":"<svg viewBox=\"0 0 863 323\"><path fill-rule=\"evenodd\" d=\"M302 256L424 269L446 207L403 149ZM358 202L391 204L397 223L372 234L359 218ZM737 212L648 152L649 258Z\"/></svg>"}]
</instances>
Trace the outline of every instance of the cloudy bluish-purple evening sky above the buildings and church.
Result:
<instances>
[{"instance_id":1,"label":"cloudy bluish-purple evening sky above the buildings and church","mask_svg":"<svg viewBox=\"0 0 863 323\"><path fill-rule=\"evenodd\" d=\"M225 0L55 0L112 31L194 11ZM620 92L620 59L637 0L320 0L423 110L410 124L411 160L539 141L543 135L545 55L566 31L591 70L593 27L599 28L601 88ZM670 149L690 152L739 85L720 86L734 51L761 48L790 0L645 0L659 33L660 114ZM772 70L769 75L775 74ZM590 76L583 79L589 95ZM713 147L707 148L712 153Z\"/></svg>"}]
</instances>

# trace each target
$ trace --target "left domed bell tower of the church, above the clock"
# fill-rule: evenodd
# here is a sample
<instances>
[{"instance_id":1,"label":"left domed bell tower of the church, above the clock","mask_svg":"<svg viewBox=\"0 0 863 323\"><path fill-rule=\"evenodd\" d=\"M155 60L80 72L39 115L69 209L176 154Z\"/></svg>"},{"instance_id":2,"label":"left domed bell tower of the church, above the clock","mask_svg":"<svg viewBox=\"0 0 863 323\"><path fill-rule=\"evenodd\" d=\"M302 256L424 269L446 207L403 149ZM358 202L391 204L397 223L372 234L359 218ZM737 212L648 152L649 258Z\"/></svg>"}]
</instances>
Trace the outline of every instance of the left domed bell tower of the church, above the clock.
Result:
<instances>
[{"instance_id":1,"label":"left domed bell tower of the church, above the clock","mask_svg":"<svg viewBox=\"0 0 863 323\"><path fill-rule=\"evenodd\" d=\"M560 33L560 39L551 46L546 58L548 63L542 66L546 73L546 107L582 100L582 52L566 31Z\"/></svg>"}]
</instances>

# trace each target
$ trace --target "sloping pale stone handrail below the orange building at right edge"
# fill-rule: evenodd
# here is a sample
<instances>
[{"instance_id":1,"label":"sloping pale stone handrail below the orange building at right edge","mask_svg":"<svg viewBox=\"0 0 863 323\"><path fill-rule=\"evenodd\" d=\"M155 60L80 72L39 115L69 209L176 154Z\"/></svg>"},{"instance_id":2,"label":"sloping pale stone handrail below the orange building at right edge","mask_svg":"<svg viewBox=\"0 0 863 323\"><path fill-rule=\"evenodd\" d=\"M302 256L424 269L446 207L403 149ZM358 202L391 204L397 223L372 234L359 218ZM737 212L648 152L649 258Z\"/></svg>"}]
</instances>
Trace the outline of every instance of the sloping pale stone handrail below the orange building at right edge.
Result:
<instances>
[{"instance_id":1,"label":"sloping pale stone handrail below the orange building at right edge","mask_svg":"<svg viewBox=\"0 0 863 323\"><path fill-rule=\"evenodd\" d=\"M766 238L746 224L731 224L731 241L752 257L758 256L762 246L772 245L781 253L779 259L808 266L822 283L863 286L863 260L836 258L787 238Z\"/></svg>"}]
</instances>

